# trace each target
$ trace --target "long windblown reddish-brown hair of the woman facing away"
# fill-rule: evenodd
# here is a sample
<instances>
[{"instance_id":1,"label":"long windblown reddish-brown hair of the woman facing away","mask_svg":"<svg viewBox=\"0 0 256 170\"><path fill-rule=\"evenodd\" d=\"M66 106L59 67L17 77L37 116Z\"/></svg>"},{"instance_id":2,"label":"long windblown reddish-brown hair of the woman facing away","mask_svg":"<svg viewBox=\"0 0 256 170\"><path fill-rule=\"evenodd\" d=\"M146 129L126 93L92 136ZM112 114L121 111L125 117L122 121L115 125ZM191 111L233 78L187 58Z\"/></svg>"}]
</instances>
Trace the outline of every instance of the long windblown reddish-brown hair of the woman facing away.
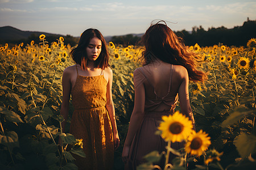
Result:
<instances>
[{"instance_id":1,"label":"long windblown reddish-brown hair of the woman facing away","mask_svg":"<svg viewBox=\"0 0 256 170\"><path fill-rule=\"evenodd\" d=\"M164 22L164 21L159 21ZM207 79L203 71L196 70L196 59L199 54L189 50L183 41L165 24L151 24L142 36L142 44L145 50L142 52L144 65L148 65L156 58L163 62L184 66L188 71L189 79L201 81Z\"/></svg>"}]
</instances>

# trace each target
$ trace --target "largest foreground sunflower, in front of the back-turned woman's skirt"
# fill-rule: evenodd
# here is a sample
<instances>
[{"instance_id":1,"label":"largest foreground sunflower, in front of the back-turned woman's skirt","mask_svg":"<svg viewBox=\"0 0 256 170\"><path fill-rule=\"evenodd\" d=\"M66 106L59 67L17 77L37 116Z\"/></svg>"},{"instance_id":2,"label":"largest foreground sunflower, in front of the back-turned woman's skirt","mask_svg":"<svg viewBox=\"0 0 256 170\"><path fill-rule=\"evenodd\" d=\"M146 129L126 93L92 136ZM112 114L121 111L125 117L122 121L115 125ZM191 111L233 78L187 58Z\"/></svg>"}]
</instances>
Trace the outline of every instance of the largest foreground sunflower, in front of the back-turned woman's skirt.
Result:
<instances>
[{"instance_id":1,"label":"largest foreground sunflower, in front of the back-turned woman's skirt","mask_svg":"<svg viewBox=\"0 0 256 170\"><path fill-rule=\"evenodd\" d=\"M176 111L170 116L163 116L163 122L158 129L162 131L162 137L166 141L181 142L187 139L191 133L193 125L188 117Z\"/></svg>"}]
</instances>

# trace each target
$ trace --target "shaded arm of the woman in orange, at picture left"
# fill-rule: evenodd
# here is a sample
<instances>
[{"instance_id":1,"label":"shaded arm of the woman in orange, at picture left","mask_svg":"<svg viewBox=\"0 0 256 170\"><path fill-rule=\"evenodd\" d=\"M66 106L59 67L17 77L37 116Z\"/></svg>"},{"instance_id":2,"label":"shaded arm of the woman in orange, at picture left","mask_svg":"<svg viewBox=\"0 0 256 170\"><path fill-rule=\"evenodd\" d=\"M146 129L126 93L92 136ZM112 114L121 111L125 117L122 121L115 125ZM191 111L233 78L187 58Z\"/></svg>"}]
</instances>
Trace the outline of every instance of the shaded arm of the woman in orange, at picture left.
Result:
<instances>
[{"instance_id":1,"label":"shaded arm of the woman in orange, at picture left","mask_svg":"<svg viewBox=\"0 0 256 170\"><path fill-rule=\"evenodd\" d=\"M63 131L65 131L65 125L68 118L68 109L69 109L69 99L71 95L71 69L70 67L66 68L63 71L62 76L62 88L63 88L63 97L61 103L60 114L64 117L64 121L61 123Z\"/></svg>"}]
</instances>

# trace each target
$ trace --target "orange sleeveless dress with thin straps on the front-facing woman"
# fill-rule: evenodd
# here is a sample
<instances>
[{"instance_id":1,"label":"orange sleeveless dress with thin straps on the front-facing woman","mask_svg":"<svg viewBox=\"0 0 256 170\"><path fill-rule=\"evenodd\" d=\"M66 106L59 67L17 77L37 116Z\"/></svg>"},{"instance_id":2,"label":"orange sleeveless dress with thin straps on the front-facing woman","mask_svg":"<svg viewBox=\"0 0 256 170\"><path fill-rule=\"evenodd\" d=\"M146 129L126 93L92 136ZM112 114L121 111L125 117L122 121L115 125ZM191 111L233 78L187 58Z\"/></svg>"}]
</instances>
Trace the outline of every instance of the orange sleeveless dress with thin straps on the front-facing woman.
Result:
<instances>
[{"instance_id":1,"label":"orange sleeveless dress with thin straps on the front-facing woman","mask_svg":"<svg viewBox=\"0 0 256 170\"><path fill-rule=\"evenodd\" d=\"M83 139L86 158L73 154L79 169L113 168L114 142L112 124L105 108L106 86L103 74L81 76L77 71L76 83L71 91L75 111L70 133L76 139Z\"/></svg>"}]
</instances>

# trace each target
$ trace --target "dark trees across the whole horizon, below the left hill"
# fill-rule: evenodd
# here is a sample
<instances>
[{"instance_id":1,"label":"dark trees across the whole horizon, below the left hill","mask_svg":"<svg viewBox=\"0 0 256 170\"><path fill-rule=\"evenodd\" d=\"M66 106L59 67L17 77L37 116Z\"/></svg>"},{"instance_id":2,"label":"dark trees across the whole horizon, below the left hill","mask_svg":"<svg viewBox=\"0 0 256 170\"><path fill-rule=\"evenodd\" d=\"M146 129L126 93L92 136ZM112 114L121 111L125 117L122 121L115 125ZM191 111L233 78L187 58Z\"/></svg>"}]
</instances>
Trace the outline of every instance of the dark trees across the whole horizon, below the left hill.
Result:
<instances>
[{"instance_id":1,"label":"dark trees across the whole horizon, below the left hill","mask_svg":"<svg viewBox=\"0 0 256 170\"><path fill-rule=\"evenodd\" d=\"M226 27L218 27L218 28L208 28L206 31L201 25L199 27L193 27L192 31L186 31L183 29L182 31L174 31L178 37L181 37L185 45L191 46L196 43L200 46L212 46L214 44L224 44L228 46L246 46L248 40L256 37L256 20L250 20L247 18L247 21L243 23L242 26L236 26L234 28L228 29ZM63 36L65 44L70 44L71 46L75 46L79 37L73 37L71 35ZM49 44L51 42L59 39L59 36L47 36L47 41ZM5 45L5 43L9 43L10 45L19 44L24 42L24 44L30 44L30 42L34 40L35 44L39 44L38 35L31 34L27 39L22 40L9 40L2 42L0 40L0 44ZM140 44L141 36L137 35L124 35L124 36L113 36L110 41L114 44L128 46L128 45L141 45Z\"/></svg>"}]
</instances>

